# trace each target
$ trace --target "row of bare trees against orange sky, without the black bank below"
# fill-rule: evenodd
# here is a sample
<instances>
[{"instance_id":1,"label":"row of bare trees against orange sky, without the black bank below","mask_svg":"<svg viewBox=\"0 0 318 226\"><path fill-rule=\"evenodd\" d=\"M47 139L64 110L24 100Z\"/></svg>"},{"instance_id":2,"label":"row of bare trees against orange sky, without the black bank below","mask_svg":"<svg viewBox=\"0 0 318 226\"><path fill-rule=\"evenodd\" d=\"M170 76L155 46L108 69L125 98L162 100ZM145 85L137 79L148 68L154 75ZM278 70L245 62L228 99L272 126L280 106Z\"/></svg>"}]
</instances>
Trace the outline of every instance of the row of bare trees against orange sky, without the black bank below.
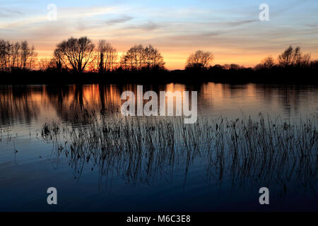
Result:
<instances>
[{"instance_id":1,"label":"row of bare trees against orange sky, without the black bank below","mask_svg":"<svg viewBox=\"0 0 318 226\"><path fill-rule=\"evenodd\" d=\"M245 69L237 64L212 66L214 55L198 50L191 54L185 64L186 71L239 70ZM254 70L317 67L317 61L311 61L310 54L302 54L300 47L288 47L277 59L269 56L254 67ZM0 71L28 70L37 66L40 71L83 73L84 71L105 73L107 71L143 71L164 70L165 61L158 49L151 44L143 47L134 45L119 57L117 49L110 42L99 40L94 44L88 37L70 37L57 44L51 59L37 60L35 47L27 41L10 42L0 40Z\"/></svg>"}]
</instances>

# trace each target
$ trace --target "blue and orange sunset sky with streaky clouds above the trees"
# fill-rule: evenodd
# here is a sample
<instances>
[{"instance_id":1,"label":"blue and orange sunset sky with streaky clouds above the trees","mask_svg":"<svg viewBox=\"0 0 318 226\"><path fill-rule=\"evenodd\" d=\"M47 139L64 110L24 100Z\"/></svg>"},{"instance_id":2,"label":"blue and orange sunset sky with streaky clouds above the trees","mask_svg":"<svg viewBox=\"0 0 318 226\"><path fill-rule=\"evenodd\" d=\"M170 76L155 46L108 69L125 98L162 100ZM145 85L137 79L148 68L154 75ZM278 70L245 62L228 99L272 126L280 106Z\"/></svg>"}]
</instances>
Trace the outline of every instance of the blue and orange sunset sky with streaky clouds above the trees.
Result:
<instances>
[{"instance_id":1,"label":"blue and orange sunset sky with streaky clouds above the trees","mask_svg":"<svg viewBox=\"0 0 318 226\"><path fill-rule=\"evenodd\" d=\"M48 19L49 4L57 6L57 20ZM261 4L269 6L267 21L259 20ZM119 54L152 44L167 69L183 69L198 49L214 54L212 64L254 66L289 45L318 59L317 12L317 0L0 0L0 39L28 40L39 59L69 37L88 36Z\"/></svg>"}]
</instances>

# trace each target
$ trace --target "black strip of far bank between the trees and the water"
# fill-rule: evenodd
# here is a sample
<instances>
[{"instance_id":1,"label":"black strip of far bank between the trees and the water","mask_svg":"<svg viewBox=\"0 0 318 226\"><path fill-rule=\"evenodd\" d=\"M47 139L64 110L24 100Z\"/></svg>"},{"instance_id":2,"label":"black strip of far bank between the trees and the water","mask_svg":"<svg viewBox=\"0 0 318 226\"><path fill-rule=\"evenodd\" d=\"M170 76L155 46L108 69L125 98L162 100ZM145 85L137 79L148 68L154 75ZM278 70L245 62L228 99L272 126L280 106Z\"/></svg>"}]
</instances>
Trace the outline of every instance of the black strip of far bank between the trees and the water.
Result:
<instances>
[{"instance_id":1,"label":"black strip of far bank between the trees and the water","mask_svg":"<svg viewBox=\"0 0 318 226\"><path fill-rule=\"evenodd\" d=\"M117 70L105 73L71 73L56 71L0 71L0 85L73 84L73 83L270 83L318 85L318 67L273 67L271 69L223 69L213 66L206 70Z\"/></svg>"}]
</instances>

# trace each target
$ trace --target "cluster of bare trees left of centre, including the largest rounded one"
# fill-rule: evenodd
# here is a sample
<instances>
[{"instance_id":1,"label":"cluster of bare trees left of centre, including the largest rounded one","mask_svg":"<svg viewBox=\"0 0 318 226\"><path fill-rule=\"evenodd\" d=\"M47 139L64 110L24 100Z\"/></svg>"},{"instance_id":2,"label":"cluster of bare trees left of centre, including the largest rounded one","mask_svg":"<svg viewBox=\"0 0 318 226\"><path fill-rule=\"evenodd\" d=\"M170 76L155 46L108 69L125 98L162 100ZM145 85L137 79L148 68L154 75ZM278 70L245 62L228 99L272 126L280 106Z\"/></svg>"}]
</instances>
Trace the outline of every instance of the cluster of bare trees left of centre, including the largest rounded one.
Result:
<instances>
[{"instance_id":1,"label":"cluster of bare trees left of centre, including the largest rounded one","mask_svg":"<svg viewBox=\"0 0 318 226\"><path fill-rule=\"evenodd\" d=\"M57 44L54 56L49 62L40 61L41 70L98 71L105 73L117 69L140 71L143 69L164 69L163 57L151 44L131 47L120 58L117 49L106 40L95 44L88 37L69 38Z\"/></svg>"}]
</instances>

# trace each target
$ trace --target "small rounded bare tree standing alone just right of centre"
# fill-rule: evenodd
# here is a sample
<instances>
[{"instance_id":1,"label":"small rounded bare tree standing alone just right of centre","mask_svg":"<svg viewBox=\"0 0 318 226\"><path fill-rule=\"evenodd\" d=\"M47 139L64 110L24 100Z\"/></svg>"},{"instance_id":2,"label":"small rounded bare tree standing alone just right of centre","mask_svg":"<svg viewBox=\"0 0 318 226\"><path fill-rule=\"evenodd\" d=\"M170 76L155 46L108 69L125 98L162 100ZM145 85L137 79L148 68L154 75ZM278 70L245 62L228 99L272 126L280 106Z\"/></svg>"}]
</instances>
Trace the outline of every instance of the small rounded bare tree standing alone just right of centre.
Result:
<instances>
[{"instance_id":1,"label":"small rounded bare tree standing alone just right of centre","mask_svg":"<svg viewBox=\"0 0 318 226\"><path fill-rule=\"evenodd\" d=\"M213 61L214 56L211 52L204 52L201 50L191 54L187 59L186 69L199 68L207 69Z\"/></svg>"}]
</instances>

